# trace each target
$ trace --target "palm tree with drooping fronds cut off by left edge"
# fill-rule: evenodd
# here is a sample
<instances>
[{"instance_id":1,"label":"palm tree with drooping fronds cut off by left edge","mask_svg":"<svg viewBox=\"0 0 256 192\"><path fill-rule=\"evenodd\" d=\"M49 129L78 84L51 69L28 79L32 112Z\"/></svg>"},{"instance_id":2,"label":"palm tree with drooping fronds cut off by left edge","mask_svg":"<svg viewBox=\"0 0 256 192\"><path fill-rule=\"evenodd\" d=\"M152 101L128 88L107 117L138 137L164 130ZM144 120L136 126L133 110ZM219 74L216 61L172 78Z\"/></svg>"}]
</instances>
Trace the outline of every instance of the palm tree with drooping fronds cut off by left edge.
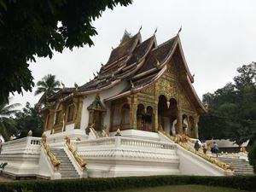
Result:
<instances>
[{"instance_id":1,"label":"palm tree with drooping fronds cut off by left edge","mask_svg":"<svg viewBox=\"0 0 256 192\"><path fill-rule=\"evenodd\" d=\"M4 140L9 140L9 137L17 133L16 122L15 119L12 118L12 115L19 111L15 109L19 106L20 103L11 105L7 105L6 103L0 104L0 134L3 136Z\"/></svg>"}]
</instances>

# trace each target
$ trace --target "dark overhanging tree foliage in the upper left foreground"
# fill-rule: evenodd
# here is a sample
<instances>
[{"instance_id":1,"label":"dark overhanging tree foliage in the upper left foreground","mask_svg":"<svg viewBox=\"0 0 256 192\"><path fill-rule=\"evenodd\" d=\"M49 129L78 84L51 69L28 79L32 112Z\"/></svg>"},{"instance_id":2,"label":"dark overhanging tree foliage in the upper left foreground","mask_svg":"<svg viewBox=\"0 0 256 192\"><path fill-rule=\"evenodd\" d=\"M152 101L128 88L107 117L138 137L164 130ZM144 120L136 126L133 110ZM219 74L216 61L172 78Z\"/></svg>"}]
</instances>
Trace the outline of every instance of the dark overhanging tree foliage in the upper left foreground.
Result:
<instances>
[{"instance_id":1,"label":"dark overhanging tree foliage in the upper left foreground","mask_svg":"<svg viewBox=\"0 0 256 192\"><path fill-rule=\"evenodd\" d=\"M0 103L9 93L32 91L28 61L53 56L53 51L93 45L92 20L105 9L127 6L132 0L0 0Z\"/></svg>"}]
</instances>

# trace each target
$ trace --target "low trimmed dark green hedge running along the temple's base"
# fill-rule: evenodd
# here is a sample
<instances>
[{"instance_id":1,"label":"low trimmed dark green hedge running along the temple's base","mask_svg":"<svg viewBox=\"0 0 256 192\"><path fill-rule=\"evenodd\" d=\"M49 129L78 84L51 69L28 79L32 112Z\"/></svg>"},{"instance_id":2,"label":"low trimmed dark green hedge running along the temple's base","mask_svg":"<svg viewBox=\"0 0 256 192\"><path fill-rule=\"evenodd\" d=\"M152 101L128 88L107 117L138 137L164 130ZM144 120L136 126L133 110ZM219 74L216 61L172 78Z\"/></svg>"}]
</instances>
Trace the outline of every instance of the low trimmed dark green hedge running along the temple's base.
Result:
<instances>
[{"instance_id":1,"label":"low trimmed dark green hedge running along the temple's base","mask_svg":"<svg viewBox=\"0 0 256 192\"><path fill-rule=\"evenodd\" d=\"M151 176L82 178L54 181L31 180L0 183L0 191L14 192L16 190L20 192L21 189L27 189L33 192L85 192L174 184L201 184L255 191L256 177Z\"/></svg>"}]
</instances>

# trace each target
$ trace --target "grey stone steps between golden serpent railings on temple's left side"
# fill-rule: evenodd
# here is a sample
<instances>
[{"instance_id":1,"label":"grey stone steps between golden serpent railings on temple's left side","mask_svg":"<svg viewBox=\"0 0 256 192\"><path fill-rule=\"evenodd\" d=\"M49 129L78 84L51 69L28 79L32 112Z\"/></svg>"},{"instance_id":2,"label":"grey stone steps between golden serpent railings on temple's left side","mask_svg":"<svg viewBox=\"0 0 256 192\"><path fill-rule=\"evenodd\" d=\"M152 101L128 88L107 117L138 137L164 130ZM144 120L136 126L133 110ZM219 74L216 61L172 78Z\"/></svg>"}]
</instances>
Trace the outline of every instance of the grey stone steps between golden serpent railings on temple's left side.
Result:
<instances>
[{"instance_id":1,"label":"grey stone steps between golden serpent railings on temple's left side","mask_svg":"<svg viewBox=\"0 0 256 192\"><path fill-rule=\"evenodd\" d=\"M60 173L61 178L79 178L79 173L75 170L72 162L69 160L63 148L51 148L50 151L58 160L61 160Z\"/></svg>"}]
</instances>

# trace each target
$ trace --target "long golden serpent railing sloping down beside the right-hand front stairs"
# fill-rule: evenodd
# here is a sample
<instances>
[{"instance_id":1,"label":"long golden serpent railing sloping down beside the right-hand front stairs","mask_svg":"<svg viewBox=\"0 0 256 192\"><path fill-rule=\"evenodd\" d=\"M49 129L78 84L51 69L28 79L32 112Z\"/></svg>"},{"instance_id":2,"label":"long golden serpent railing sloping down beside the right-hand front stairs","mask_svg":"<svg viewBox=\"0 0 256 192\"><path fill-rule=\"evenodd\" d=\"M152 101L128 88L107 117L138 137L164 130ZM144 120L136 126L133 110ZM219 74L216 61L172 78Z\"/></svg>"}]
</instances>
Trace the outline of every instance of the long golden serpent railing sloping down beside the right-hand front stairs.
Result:
<instances>
[{"instance_id":1,"label":"long golden serpent railing sloping down beside the right-hand front stairs","mask_svg":"<svg viewBox=\"0 0 256 192\"><path fill-rule=\"evenodd\" d=\"M177 143L178 145L180 145L181 147L187 149L188 151L192 152L193 154L196 154L198 156L200 156L201 158L203 158L204 160L207 160L209 162L211 162L212 164L224 169L224 170L231 170L231 165L230 164L225 164L223 162L220 162L219 160L217 160L216 158L213 158L207 154L203 154L199 151L196 151L194 148L190 147L189 145L183 143L180 139L178 139L177 137L172 137L170 136L168 133L166 133L166 131L160 131L163 135L165 135L166 137L168 137L169 139L171 139L173 142Z\"/></svg>"}]
</instances>

